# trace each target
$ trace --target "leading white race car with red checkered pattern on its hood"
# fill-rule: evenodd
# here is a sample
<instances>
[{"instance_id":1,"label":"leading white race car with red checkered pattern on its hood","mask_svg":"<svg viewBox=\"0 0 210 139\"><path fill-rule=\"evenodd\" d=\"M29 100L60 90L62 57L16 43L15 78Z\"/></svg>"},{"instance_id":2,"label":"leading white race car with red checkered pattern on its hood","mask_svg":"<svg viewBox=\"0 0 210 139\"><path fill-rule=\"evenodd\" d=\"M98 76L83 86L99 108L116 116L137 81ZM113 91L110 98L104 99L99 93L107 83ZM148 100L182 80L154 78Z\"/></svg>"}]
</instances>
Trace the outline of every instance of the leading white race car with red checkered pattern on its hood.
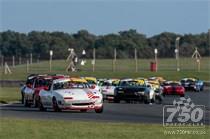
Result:
<instances>
[{"instance_id":1,"label":"leading white race car with red checkered pattern on its hood","mask_svg":"<svg viewBox=\"0 0 210 139\"><path fill-rule=\"evenodd\" d=\"M102 94L91 89L87 82L77 82L70 78L54 80L48 90L41 90L39 98L40 110L53 108L54 111L61 110L95 110L96 113L103 112Z\"/></svg>"}]
</instances>

